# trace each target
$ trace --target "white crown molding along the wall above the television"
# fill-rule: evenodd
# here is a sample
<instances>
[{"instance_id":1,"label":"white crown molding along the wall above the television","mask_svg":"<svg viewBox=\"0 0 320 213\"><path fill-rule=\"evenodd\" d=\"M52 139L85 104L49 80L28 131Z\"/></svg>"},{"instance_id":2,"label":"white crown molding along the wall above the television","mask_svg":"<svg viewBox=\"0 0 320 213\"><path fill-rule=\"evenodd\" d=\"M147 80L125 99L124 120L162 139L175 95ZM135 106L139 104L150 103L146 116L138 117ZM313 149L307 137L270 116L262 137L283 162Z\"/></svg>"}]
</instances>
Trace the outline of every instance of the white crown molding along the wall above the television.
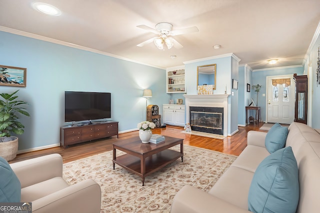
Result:
<instances>
[{"instance_id":1,"label":"white crown molding along the wall above the television","mask_svg":"<svg viewBox=\"0 0 320 213\"><path fill-rule=\"evenodd\" d=\"M100 51L100 50L97 50L97 49L92 49L92 48L80 46L80 45L77 45L77 44L73 44L73 43L68 43L68 42L65 42L65 41L57 40L57 39L54 39L54 38L49 38L49 37L45 37L45 36L42 36L42 35L36 35L36 34L33 34L33 33L24 32L24 31L21 31L21 30L8 28L8 27L5 27L5 26L0 26L0 31L8 32L8 33L16 34L16 35L21 35L21 36L25 36L25 37L29 37L29 38L34 38L34 39L37 39L37 40L47 41L47 42L50 42L50 43L60 44L60 45L63 45L63 46L68 46L68 47L81 49L81 50L85 50L85 51L89 51L89 52L93 52L93 53L98 53L98 54L101 54L101 55L106 55L106 56L110 56L110 57L113 57L113 58L118 58L118 59L121 59L121 60L130 61L130 62L134 62L134 63L138 63L138 64L142 64L142 65L146 65L146 66L150 66L150 67L154 67L154 68L159 68L159 69L164 69L165 70L165 67L159 67L159 66L154 66L152 64L142 63L140 61L135 61L135 60L132 60L132 59L129 59L129 58L121 57L119 55L115 55L115 54L112 54L112 53L103 52L103 51Z\"/></svg>"}]
</instances>

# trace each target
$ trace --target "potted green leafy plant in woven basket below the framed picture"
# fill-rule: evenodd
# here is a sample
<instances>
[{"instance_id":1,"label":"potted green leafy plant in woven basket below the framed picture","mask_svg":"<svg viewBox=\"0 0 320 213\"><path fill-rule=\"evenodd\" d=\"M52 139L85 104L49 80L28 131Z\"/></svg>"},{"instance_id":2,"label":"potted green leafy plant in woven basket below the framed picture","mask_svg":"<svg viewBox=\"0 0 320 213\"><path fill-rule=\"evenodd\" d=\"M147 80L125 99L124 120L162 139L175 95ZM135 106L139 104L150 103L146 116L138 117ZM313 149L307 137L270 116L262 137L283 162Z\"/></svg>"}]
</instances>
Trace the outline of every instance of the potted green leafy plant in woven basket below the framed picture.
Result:
<instances>
[{"instance_id":1,"label":"potted green leafy plant in woven basket below the framed picture","mask_svg":"<svg viewBox=\"0 0 320 213\"><path fill-rule=\"evenodd\" d=\"M26 109L21 107L27 102L16 100L18 96L15 93L18 91L11 94L0 93L0 156L7 161L13 160L18 150L18 138L11 136L11 133L21 135L24 132L24 126L18 121L17 114L30 116Z\"/></svg>"}]
</instances>

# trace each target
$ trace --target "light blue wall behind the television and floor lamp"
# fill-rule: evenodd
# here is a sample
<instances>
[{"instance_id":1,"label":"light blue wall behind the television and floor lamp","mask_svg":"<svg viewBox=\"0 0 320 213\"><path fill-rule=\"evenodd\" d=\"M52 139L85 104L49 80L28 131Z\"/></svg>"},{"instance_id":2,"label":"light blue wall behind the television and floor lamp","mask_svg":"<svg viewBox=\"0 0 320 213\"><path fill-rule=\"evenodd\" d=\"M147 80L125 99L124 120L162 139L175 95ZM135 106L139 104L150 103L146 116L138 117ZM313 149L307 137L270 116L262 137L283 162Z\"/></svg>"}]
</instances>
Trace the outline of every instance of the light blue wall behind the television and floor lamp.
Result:
<instances>
[{"instance_id":1,"label":"light blue wall behind the television and floor lamp","mask_svg":"<svg viewBox=\"0 0 320 213\"><path fill-rule=\"evenodd\" d=\"M64 123L64 91L111 92L111 119L119 131L136 128L145 120L143 89L152 90L148 104L168 103L165 70L0 31L0 64L27 68L26 87L1 86L0 92L17 89L30 117L22 117L24 134L19 150L59 143Z\"/></svg>"}]
</instances>

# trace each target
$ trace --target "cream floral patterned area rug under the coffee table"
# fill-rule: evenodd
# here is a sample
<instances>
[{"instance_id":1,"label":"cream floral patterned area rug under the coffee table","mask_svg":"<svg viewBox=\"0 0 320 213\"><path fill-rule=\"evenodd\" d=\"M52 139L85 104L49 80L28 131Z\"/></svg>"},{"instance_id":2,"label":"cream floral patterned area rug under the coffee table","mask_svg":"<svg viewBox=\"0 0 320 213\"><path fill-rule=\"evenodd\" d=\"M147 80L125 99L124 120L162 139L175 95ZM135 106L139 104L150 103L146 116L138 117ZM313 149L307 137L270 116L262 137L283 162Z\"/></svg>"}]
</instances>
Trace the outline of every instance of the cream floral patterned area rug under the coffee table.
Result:
<instances>
[{"instance_id":1,"label":"cream floral patterned area rug under the coffee table","mask_svg":"<svg viewBox=\"0 0 320 213\"><path fill-rule=\"evenodd\" d=\"M180 147L170 149L179 151ZM101 213L169 213L172 199L184 186L208 192L236 159L207 149L183 145L179 158L158 172L141 178L120 166L112 168L112 151L63 164L63 178L69 184L92 179L101 187ZM117 156L121 152L117 151Z\"/></svg>"}]
</instances>

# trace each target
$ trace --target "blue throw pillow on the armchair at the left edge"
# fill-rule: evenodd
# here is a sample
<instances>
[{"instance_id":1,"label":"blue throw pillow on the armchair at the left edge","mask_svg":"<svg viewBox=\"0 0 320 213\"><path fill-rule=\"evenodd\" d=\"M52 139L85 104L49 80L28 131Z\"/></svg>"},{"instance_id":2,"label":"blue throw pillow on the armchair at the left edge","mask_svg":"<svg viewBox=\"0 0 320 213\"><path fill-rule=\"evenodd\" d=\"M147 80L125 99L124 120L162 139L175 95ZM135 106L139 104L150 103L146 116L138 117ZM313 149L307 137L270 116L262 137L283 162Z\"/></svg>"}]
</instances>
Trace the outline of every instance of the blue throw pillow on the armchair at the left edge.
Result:
<instances>
[{"instance_id":1,"label":"blue throw pillow on the armchair at the left edge","mask_svg":"<svg viewBox=\"0 0 320 213\"><path fill-rule=\"evenodd\" d=\"M8 162L0 157L0 203L16 203L21 199L21 184Z\"/></svg>"}]
</instances>

